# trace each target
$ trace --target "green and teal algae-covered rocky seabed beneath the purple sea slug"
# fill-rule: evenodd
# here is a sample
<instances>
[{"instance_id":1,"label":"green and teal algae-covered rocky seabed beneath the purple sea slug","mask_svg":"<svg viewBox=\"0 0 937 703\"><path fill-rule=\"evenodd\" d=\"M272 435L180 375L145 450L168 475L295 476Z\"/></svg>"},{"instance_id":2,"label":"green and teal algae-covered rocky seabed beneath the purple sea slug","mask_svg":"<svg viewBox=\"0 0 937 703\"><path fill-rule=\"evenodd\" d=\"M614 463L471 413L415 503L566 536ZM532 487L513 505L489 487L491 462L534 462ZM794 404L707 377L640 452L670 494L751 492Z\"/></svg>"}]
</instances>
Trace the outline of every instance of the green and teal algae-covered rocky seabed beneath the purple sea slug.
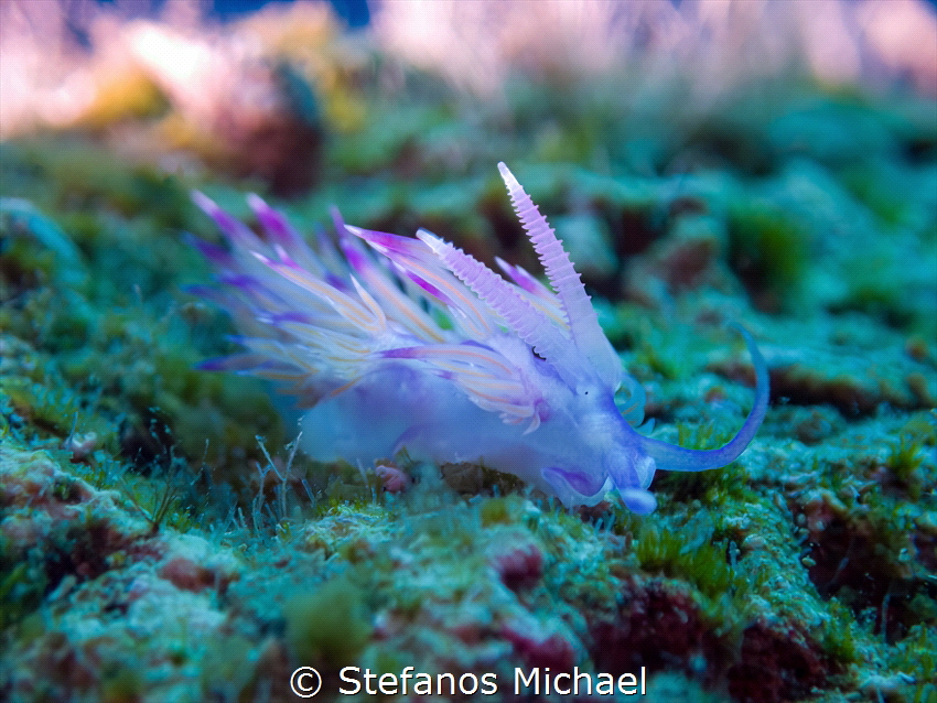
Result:
<instances>
[{"instance_id":1,"label":"green and teal algae-covered rocky seabed beneath the purple sea slug","mask_svg":"<svg viewBox=\"0 0 937 703\"><path fill-rule=\"evenodd\" d=\"M699 109L550 75L480 98L336 55L317 105L293 93L259 127L220 96L220 147L146 76L0 144L0 699L287 701L311 666L320 699L365 700L340 695L354 666L489 673L485 700L515 700L515 668L579 667L644 670L653 701L937 701L934 99L796 75ZM726 323L767 360L748 450L659 473L649 516L406 457L389 491L294 453L289 398L195 368L237 346L185 289L212 272L183 232L217 240L192 188L537 271L498 161L564 239L656 436L740 426L753 375ZM542 686L517 700L611 697Z\"/></svg>"}]
</instances>

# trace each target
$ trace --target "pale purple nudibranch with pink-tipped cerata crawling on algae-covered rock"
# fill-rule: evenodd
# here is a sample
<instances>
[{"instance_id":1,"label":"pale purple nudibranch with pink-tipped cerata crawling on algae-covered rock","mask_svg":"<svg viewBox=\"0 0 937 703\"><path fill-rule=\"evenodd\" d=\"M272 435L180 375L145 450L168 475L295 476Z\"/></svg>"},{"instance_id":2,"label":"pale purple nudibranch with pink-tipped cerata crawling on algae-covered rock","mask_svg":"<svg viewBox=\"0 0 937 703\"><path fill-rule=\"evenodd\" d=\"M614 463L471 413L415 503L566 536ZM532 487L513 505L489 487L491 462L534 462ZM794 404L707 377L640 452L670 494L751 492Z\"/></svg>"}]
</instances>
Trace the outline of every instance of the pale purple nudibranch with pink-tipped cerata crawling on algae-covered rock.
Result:
<instances>
[{"instance_id":1,"label":"pale purple nudibranch with pink-tipped cerata crawling on algae-covered rock","mask_svg":"<svg viewBox=\"0 0 937 703\"><path fill-rule=\"evenodd\" d=\"M508 281L427 230L371 231L337 213L337 239L320 232L313 249L250 195L260 237L194 194L228 244L196 242L222 284L200 292L231 313L245 347L203 368L289 386L309 408L302 448L319 461L371 463L406 448L514 474L566 506L617 491L631 510L650 512L656 469L718 468L748 445L767 408L764 359L739 327L755 398L724 446L688 450L637 432L642 387L600 327L562 241L498 169L549 288L498 259Z\"/></svg>"}]
</instances>

